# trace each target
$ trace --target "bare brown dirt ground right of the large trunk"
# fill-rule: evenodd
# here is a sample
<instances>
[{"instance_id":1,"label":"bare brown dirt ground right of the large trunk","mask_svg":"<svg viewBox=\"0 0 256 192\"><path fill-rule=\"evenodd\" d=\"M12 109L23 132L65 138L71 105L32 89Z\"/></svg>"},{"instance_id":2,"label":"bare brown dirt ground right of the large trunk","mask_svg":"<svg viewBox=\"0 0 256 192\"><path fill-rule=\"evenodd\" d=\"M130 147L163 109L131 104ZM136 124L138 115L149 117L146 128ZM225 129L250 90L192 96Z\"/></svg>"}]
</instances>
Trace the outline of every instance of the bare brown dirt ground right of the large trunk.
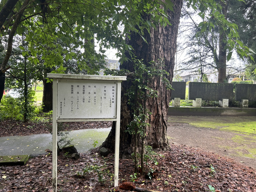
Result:
<instances>
[{"instance_id":1,"label":"bare brown dirt ground right of the large trunk","mask_svg":"<svg viewBox=\"0 0 256 192\"><path fill-rule=\"evenodd\" d=\"M209 121L210 120L211 119L209 119ZM197 121L197 117L193 117L193 121ZM248 135L238 132L221 131L218 128L194 127L188 123L180 122L182 122L182 118L180 117L169 117L167 128L169 143L200 148L212 153L230 157L236 162L240 162L256 169L256 155L255 153L251 154L249 152L250 149L256 149L256 140L250 140L250 142L246 140L236 140L236 138L248 139ZM255 139L254 134L251 139ZM249 155L251 155L251 158L248 157Z\"/></svg>"}]
</instances>

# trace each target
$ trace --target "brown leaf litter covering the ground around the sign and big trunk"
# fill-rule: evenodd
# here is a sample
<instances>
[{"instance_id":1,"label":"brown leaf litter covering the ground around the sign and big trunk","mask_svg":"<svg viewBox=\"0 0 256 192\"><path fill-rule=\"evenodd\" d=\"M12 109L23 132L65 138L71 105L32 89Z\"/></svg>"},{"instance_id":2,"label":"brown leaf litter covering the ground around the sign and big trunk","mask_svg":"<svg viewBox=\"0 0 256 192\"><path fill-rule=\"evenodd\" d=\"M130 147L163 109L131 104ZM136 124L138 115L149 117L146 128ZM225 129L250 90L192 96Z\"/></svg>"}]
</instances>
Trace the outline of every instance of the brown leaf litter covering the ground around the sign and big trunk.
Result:
<instances>
[{"instance_id":1,"label":"brown leaf litter covering the ground around the sign and big trunk","mask_svg":"<svg viewBox=\"0 0 256 192\"><path fill-rule=\"evenodd\" d=\"M109 127L108 122L105 123L104 125ZM4 129L5 124L8 126ZM89 126L89 124L85 124ZM34 131L34 133L40 133L40 130L42 133L44 132L42 130L48 130L49 126L49 124L33 125L2 121L0 122L0 131L4 133L4 136L24 135L30 134L30 129L33 127L39 127L38 131ZM67 127L74 129L72 126ZM81 124L75 126L76 129L86 128ZM94 122L90 126L96 128L101 125ZM12 128L16 128L16 130ZM162 151L158 154L162 154L164 157L157 157L158 165L153 163L150 165L154 170L154 177L149 179L138 174L138 178L135 179L136 186L155 191L203 192L211 189L216 192L256 192L255 170L235 163L231 159L178 145L171 145L170 151ZM59 156L58 191L124 192L118 187L113 188L113 162L113 154L102 158L97 150L80 154L78 160ZM84 170L87 172L83 174ZM133 170L131 159L120 159L119 183L130 181ZM50 192L52 191L51 178L52 154L49 152L47 155L30 159L24 166L0 167L0 191Z\"/></svg>"}]
</instances>

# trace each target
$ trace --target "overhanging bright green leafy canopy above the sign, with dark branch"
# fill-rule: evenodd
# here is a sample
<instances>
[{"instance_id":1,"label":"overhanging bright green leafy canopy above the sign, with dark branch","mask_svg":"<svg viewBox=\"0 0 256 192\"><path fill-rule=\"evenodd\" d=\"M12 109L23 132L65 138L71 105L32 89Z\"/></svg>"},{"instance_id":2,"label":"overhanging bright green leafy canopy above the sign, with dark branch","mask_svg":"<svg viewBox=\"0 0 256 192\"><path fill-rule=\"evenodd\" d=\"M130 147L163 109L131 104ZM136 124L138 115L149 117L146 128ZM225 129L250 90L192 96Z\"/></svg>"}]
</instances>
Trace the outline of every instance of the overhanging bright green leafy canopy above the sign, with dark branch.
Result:
<instances>
[{"instance_id":1,"label":"overhanging bright green leafy canopy above the sign, with dark branch","mask_svg":"<svg viewBox=\"0 0 256 192\"><path fill-rule=\"evenodd\" d=\"M140 5L137 6L138 4ZM166 19L157 1L147 5L150 6L147 8L144 3L124 0L97 0L93 3L80 0L19 0L1 28L1 35L8 37L8 44L1 61L0 75L5 73L8 66L14 35L22 34L25 30L28 31L25 41L29 42L31 52L28 62L38 62L34 55L41 56L39 61L46 68L60 73L65 70L65 60L75 59L78 68L86 69L88 74L95 74L98 61L103 59L103 48L117 48L117 55L120 56L126 50L131 50L125 44L124 34L128 30L139 33L138 28L146 29L150 25L142 19L142 8L146 8L145 11L153 15L162 16L163 20ZM3 4L1 8L4 8ZM0 15L2 16L4 15ZM124 31L119 29L120 25L126 26ZM99 45L98 52L94 49L94 38ZM65 50L65 57L57 39L61 39L68 48ZM1 84L4 85L4 78L1 79ZM3 90L3 86L1 89Z\"/></svg>"}]
</instances>

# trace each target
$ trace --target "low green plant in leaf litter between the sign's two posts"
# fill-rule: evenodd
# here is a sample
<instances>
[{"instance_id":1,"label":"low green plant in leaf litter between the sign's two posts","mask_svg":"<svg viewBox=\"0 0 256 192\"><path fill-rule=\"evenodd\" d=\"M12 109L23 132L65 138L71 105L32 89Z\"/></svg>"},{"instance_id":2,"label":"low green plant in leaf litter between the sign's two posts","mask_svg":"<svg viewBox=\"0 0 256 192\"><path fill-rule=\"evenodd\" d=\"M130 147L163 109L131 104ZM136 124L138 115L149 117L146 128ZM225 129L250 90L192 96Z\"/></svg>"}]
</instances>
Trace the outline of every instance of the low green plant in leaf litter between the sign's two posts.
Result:
<instances>
[{"instance_id":1,"label":"low green plant in leaf litter between the sign's two posts","mask_svg":"<svg viewBox=\"0 0 256 192\"><path fill-rule=\"evenodd\" d=\"M97 173L98 180L101 183L105 183L108 177L113 177L113 174L110 173L110 170L106 168L107 165L104 164L102 166L98 165L88 165L83 168L82 172L77 172L76 174L79 177L88 177L90 173Z\"/></svg>"}]
</instances>

